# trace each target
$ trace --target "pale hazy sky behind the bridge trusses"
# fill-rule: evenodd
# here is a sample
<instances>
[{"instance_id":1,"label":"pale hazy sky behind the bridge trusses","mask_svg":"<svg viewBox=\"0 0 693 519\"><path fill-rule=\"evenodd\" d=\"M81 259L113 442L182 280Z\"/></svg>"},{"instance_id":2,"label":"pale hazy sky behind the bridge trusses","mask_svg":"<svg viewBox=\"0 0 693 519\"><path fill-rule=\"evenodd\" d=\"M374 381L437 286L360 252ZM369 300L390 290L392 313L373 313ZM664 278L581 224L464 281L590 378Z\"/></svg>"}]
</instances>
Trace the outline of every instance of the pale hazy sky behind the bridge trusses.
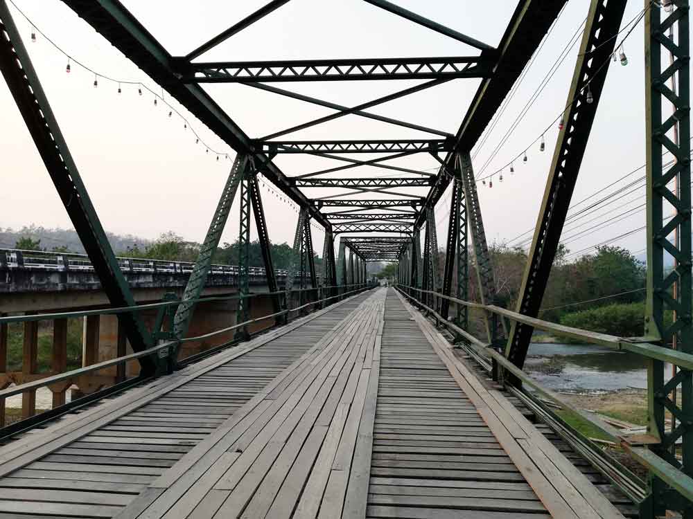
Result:
<instances>
[{"instance_id":1,"label":"pale hazy sky behind the bridge trusses","mask_svg":"<svg viewBox=\"0 0 693 519\"><path fill-rule=\"evenodd\" d=\"M185 239L201 242L235 152L207 127L172 100L161 87L112 47L91 26L59 0L12 0L10 10L21 29L30 57L51 102L82 179L87 185L103 226L114 233L155 239L168 230ZM146 2L125 0L150 33L173 55L184 55L220 33L245 15L261 7L265 0L229 2L221 0ZM491 3L477 0L398 0L410 9L470 35L492 46L498 45L516 1ZM552 70L565 45L579 30L589 6L588 0L571 0L527 71L514 97L483 145L473 149L473 165L479 176L504 167L527 149L527 163L516 161L514 174L505 168L493 178L493 188L478 185L486 236L489 242L524 244L522 233L536 224L552 151L559 129L552 121L565 106L579 41L568 51L545 88L521 122L500 146L486 167L486 161L500 143L518 114L532 98L537 86ZM31 24L40 33L30 42ZM643 9L642 1L629 1L626 22ZM41 34L43 33L43 34ZM625 35L625 32L622 33ZM71 61L46 40L50 38L64 53L85 64L94 73ZM599 194L634 181L636 174L605 186L644 165L644 57L642 20L624 42L629 64L610 63L602 100L573 195L573 204L599 199ZM322 59L346 57L406 57L476 55L474 48L433 33L409 21L380 10L362 0L292 0L254 26L206 53L200 61ZM118 82L142 82L148 89L137 94L137 86ZM94 88L94 80L98 86ZM273 85L344 105L359 104L381 95L413 86L420 81L303 82ZM479 80L457 79L444 85L382 104L371 111L418 125L455 133L477 89ZM333 110L279 97L243 84L204 85L204 89L252 138L306 122ZM155 107L151 91L163 95L177 109L168 117L168 107ZM36 224L71 228L62 203L53 188L35 145L4 82L0 82L0 154L3 188L0 190L0 226L19 228ZM184 124L188 125L184 128ZM548 128L548 129L547 129ZM195 135L201 143L195 143ZM538 137L544 135L545 152L539 151ZM368 139L431 138L430 134L360 118L345 116L290 134L286 139ZM203 144L204 143L204 144ZM533 144L534 143L534 144ZM205 152L209 147L212 152ZM216 161L216 154L221 158ZM356 158L367 159L369 155ZM275 163L288 176L341 165L312 156L279 156ZM421 154L390 162L416 170L435 172L435 159ZM392 172L360 167L331 176L388 176ZM308 197L339 191L305 190ZM424 194L417 188L401 192ZM263 188L263 203L272 242L292 242L297 212ZM355 198L369 198L365 195ZM632 203L627 203L629 200ZM588 201L588 202L589 202ZM585 207L588 202L579 207ZM635 188L611 206L581 221L568 224L563 232L566 246L575 255L593 251L595 244L644 225L644 212L633 210L613 224L590 230L600 222L644 203L644 188ZM620 209L617 206L624 204ZM439 244L444 244L449 198L436 208ZM602 214L603 213L603 214ZM577 227L581 225L580 227ZM253 224L254 226L254 224ZM581 231L585 231L582 234ZM254 230L253 230L254 233ZM222 242L238 235L238 203L234 203ZM520 238L518 239L518 236ZM524 237L531 237L531 233ZM316 251L322 254L322 228L313 231ZM614 242L640 254L645 246L644 231Z\"/></svg>"}]
</instances>

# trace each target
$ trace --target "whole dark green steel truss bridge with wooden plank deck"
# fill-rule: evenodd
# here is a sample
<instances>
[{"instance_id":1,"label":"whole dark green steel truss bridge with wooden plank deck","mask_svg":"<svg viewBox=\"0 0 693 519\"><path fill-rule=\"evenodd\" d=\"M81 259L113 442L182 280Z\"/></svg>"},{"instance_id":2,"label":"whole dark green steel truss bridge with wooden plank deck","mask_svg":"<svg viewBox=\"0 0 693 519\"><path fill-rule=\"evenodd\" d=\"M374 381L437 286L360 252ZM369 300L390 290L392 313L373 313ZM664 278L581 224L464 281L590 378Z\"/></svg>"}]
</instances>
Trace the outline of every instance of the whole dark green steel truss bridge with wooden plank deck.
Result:
<instances>
[{"instance_id":1,"label":"whole dark green steel truss bridge with wooden plank deck","mask_svg":"<svg viewBox=\"0 0 693 519\"><path fill-rule=\"evenodd\" d=\"M15 386L4 383L0 399L23 394L23 402L30 403L37 388L62 384L64 392L66 383L98 370L126 361L141 367L139 376L113 388L72 403L63 399L55 409L3 429L0 516L582 519L654 518L668 509L693 518L688 0L644 2L648 275L645 336L637 338L538 318L626 0L589 2L565 124L514 309L500 307L495 297L470 150L564 0L520 0L495 45L387 0L365 0L374 10L455 39L471 48L471 55L254 62L200 58L265 16L281 15L289 0L269 1L185 56L171 55L118 0L63 1L234 149L236 157L182 297L153 305L159 316L153 327L146 326L51 110L51 93L44 91L24 35L0 0L0 70L110 301L108 309L0 317L3 352L8 325L25 327L25 378ZM669 38L669 32L676 37ZM665 51L672 55L671 64L663 61ZM455 134L372 111L465 78L477 78L480 86ZM351 80L421 82L353 106L275 86ZM202 88L210 82L241 83L333 113L251 137ZM430 138L286 140L347 115ZM676 141L670 137L674 127ZM675 158L669 165L662 161L665 150ZM329 158L338 165L288 176L277 165L284 154ZM435 158L437 171L392 163L418 154ZM388 175L357 176L358 167L387 170ZM272 263L260 175L300 208L283 286ZM674 178L678 192L667 187ZM307 194L316 188L332 191ZM434 208L448 189L450 216L441 258ZM236 302L237 315L235 324L218 333L235 331L236 338L184 359L180 352L186 341L214 335L191 336L191 323L234 200L240 210L239 293L227 299ZM665 202L675 213L666 223ZM248 281L253 218L272 300L267 316L251 313L257 296ZM322 276L313 256L314 224L325 232ZM671 239L674 233L678 242ZM665 268L665 252L676 260L673 270ZM398 264L394 289L369 284L365 267L376 261ZM478 286L475 301L469 298L469 269ZM301 294L298 306L292 293ZM470 309L482 314L482 337L471 334ZM665 324L669 311L674 320ZM94 313L118 316L132 353L103 362L92 359L71 371L55 357L53 370L38 374L36 342L27 330L37 329L39 320L58 323ZM254 333L252 327L261 322L269 323L269 331ZM624 435L530 379L523 365L534 329L647 358L646 432ZM677 349L667 346L672 338ZM56 348L62 343L54 340ZM5 366L6 360L1 363ZM678 368L671 379L665 378L666 363ZM672 397L676 394L679 399ZM107 401L98 400L106 395ZM647 477L642 480L581 436L547 402L602 431L644 467ZM28 415L33 408L35 401Z\"/></svg>"}]
</instances>

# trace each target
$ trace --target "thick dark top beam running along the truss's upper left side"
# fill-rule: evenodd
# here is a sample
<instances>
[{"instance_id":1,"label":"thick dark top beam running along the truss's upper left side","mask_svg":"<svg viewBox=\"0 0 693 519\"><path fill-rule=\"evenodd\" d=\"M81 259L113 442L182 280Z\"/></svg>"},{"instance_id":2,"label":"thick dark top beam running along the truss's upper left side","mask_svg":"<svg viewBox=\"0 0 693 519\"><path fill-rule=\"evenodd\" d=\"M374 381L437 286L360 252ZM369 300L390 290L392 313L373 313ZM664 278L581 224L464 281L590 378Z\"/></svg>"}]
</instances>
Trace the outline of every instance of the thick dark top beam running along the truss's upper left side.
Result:
<instances>
[{"instance_id":1,"label":"thick dark top beam running along the truss's upper left side","mask_svg":"<svg viewBox=\"0 0 693 519\"><path fill-rule=\"evenodd\" d=\"M85 19L108 42L119 49L144 73L158 84L164 85L179 103L207 125L220 139L239 154L253 154L256 150L243 130L202 89L200 85L183 84L175 71L180 66L159 42L118 0L63 0L80 17ZM262 163L265 177L299 207L308 208L310 215L320 225L330 228L317 208L310 205L306 196L294 186L274 165L270 158L258 154L258 167Z\"/></svg>"}]
</instances>

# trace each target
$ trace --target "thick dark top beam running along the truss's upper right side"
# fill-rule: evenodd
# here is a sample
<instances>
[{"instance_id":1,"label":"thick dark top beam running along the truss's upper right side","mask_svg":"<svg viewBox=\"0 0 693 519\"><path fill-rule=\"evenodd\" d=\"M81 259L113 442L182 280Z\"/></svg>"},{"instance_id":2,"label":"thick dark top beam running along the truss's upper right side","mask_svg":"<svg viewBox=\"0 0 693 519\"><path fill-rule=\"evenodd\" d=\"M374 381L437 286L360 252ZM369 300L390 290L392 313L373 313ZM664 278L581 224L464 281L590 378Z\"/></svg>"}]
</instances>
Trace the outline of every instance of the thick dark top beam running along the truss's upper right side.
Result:
<instances>
[{"instance_id":1,"label":"thick dark top beam running along the truss's upper right side","mask_svg":"<svg viewBox=\"0 0 693 519\"><path fill-rule=\"evenodd\" d=\"M493 75L482 80L455 134L455 149L468 152L527 66L534 51L563 8L566 0L520 0L498 45ZM435 207L450 183L446 167L453 170L455 156L448 153L437 179L426 197L426 207ZM423 212L416 225L423 225Z\"/></svg>"}]
</instances>

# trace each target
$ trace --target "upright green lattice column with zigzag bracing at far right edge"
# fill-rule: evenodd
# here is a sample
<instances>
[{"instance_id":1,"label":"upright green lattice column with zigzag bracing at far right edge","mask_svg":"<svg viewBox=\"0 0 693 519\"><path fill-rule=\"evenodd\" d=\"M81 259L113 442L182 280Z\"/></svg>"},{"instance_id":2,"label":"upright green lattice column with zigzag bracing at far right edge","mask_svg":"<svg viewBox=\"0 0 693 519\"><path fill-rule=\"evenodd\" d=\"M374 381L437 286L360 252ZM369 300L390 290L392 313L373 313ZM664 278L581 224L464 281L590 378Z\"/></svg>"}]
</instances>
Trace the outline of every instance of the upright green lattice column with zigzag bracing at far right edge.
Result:
<instances>
[{"instance_id":1,"label":"upright green lattice column with zigzag bracing at far right edge","mask_svg":"<svg viewBox=\"0 0 693 519\"><path fill-rule=\"evenodd\" d=\"M647 310L645 335L663 345L676 344L693 354L693 311L691 277L691 165L690 165L690 3L674 0L672 10L645 4L645 113L647 149ZM667 35L667 32L672 37ZM663 53L672 57L664 64ZM667 60L668 61L668 60ZM673 81L674 88L667 82ZM669 112L672 111L672 113ZM669 135L678 125L678 143ZM663 165L663 152L674 156L672 165ZM669 183L678 178L678 192ZM666 209L665 209L666 204ZM669 219L669 211L673 217ZM665 212L667 213L665 215ZM668 220L668 221L667 221ZM674 239L678 232L678 246ZM665 253L674 260L667 266ZM672 287L678 282L678 291ZM675 294L675 295L674 295ZM672 311L670 325L665 313ZM648 432L660 443L651 450L682 473L693 476L693 376L690 370L675 368L665 380L665 365L648 363ZM678 395L680 398L672 397ZM672 427L665 423L667 410ZM681 439L681 460L672 446ZM693 518L693 503L668 489L653 474L649 476L649 496L641 507L641 517L654 517L665 509L681 511Z\"/></svg>"}]
</instances>

